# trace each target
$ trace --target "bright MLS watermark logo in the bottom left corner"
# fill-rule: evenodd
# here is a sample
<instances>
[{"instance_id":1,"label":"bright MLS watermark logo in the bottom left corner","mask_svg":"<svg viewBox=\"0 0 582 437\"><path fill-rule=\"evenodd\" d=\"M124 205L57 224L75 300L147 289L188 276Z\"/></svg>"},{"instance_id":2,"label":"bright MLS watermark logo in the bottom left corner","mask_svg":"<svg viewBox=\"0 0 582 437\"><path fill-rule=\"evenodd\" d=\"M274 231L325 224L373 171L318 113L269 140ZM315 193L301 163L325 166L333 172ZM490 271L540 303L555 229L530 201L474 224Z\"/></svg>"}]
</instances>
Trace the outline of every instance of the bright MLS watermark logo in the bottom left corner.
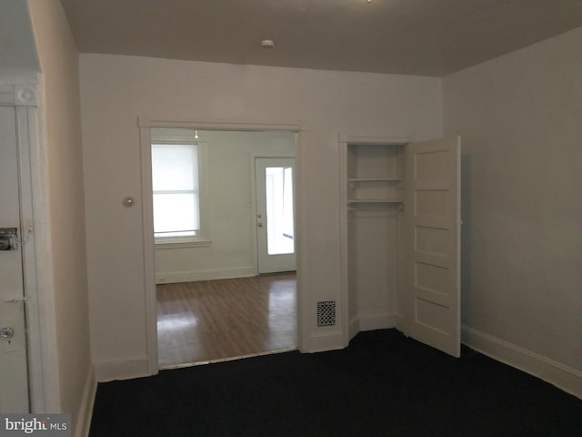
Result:
<instances>
[{"instance_id":1,"label":"bright MLS watermark logo in the bottom left corner","mask_svg":"<svg viewBox=\"0 0 582 437\"><path fill-rule=\"evenodd\" d=\"M0 414L0 437L71 437L70 414Z\"/></svg>"}]
</instances>

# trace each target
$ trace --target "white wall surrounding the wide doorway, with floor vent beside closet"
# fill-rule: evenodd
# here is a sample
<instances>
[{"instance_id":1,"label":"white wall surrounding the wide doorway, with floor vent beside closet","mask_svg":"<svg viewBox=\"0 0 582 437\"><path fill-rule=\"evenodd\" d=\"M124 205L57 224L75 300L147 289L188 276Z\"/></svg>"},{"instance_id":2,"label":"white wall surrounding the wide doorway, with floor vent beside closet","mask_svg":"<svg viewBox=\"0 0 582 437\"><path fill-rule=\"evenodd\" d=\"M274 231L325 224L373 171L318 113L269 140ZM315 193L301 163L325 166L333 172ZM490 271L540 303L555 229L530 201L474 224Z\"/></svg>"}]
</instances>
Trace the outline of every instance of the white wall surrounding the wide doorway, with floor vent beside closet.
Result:
<instances>
[{"instance_id":1,"label":"white wall surrounding the wide doorway, with floor vent beside closet","mask_svg":"<svg viewBox=\"0 0 582 437\"><path fill-rule=\"evenodd\" d=\"M80 66L91 344L100 378L147 373L143 218L140 208L122 205L142 194L137 117L304 124L301 339L306 351L342 347L342 327L318 330L315 320L317 300L340 300L337 133L439 137L440 79L131 56L82 55Z\"/></svg>"}]
</instances>

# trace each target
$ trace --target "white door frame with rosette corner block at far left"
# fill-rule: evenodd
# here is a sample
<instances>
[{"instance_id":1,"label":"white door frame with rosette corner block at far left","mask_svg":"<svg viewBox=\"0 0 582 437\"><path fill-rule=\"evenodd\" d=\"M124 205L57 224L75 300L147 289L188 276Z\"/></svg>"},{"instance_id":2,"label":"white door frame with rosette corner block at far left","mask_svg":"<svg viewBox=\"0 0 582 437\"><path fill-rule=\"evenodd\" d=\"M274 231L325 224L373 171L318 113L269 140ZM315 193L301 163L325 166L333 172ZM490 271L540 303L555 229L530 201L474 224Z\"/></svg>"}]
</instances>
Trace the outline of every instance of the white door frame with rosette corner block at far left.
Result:
<instances>
[{"instance_id":1,"label":"white door frame with rosette corner block at far left","mask_svg":"<svg viewBox=\"0 0 582 437\"><path fill-rule=\"evenodd\" d=\"M21 190L21 239L25 286L28 392L31 412L59 406L55 290L49 234L50 208L44 117L35 73L15 72L0 85L0 105L15 108ZM24 237L24 229L26 236ZM36 259L43 259L37 263ZM35 371L33 371L33 369Z\"/></svg>"}]
</instances>

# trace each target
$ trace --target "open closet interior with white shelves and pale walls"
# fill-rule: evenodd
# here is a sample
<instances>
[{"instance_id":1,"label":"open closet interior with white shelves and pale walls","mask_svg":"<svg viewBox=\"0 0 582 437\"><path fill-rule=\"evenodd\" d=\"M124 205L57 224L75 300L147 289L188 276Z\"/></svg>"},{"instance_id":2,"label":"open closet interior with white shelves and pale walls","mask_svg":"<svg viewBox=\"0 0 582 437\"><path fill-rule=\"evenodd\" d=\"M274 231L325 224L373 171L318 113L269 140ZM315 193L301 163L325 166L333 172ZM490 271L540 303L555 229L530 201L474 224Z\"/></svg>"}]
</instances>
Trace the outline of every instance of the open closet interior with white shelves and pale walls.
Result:
<instances>
[{"instance_id":1,"label":"open closet interior with white shelves and pale walls","mask_svg":"<svg viewBox=\"0 0 582 437\"><path fill-rule=\"evenodd\" d=\"M405 145L346 145L349 338L403 320Z\"/></svg>"}]
</instances>

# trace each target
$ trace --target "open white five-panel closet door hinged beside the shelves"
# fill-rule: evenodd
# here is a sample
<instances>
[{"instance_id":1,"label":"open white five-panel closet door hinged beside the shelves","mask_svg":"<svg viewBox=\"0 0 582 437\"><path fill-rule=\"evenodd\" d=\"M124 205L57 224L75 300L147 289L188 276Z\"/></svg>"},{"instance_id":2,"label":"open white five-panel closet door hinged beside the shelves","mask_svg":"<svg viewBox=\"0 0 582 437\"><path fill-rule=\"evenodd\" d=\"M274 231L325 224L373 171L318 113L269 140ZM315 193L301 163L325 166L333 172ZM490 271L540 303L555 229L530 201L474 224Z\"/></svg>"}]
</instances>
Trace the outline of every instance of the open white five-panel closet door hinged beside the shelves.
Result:
<instances>
[{"instance_id":1,"label":"open white five-panel closet door hinged beside the shelves","mask_svg":"<svg viewBox=\"0 0 582 437\"><path fill-rule=\"evenodd\" d=\"M460 356L460 138L406 146L406 334Z\"/></svg>"}]
</instances>

